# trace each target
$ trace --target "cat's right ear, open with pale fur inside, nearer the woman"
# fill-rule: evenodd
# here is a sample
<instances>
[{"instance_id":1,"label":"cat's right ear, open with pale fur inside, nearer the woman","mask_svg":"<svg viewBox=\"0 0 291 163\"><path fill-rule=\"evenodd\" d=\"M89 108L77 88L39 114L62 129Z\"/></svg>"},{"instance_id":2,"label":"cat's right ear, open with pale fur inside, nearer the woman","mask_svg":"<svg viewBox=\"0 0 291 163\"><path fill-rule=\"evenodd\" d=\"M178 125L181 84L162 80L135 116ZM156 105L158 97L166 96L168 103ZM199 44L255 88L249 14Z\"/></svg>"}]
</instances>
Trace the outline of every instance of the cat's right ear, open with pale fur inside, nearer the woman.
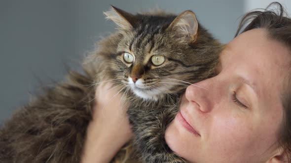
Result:
<instances>
[{"instance_id":1,"label":"cat's right ear, open with pale fur inside, nearer the woman","mask_svg":"<svg viewBox=\"0 0 291 163\"><path fill-rule=\"evenodd\" d=\"M187 41L196 41L198 22L192 11L184 11L170 24L167 30L174 30L176 37Z\"/></svg>"}]
</instances>

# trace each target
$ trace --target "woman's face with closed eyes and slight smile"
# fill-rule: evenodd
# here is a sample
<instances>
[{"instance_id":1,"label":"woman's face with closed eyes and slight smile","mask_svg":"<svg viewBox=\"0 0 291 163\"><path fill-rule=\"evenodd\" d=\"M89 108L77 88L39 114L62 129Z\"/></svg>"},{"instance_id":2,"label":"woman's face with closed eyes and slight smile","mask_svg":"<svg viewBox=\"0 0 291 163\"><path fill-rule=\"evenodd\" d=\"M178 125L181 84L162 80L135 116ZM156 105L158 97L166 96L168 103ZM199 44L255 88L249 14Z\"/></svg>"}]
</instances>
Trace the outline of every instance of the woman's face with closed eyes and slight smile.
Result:
<instances>
[{"instance_id":1,"label":"woman's face with closed eyes and slight smile","mask_svg":"<svg viewBox=\"0 0 291 163\"><path fill-rule=\"evenodd\" d=\"M281 93L291 58L283 44L266 35L253 29L234 38L221 54L220 73L187 87L165 134L179 156L193 163L277 158Z\"/></svg>"}]
</instances>

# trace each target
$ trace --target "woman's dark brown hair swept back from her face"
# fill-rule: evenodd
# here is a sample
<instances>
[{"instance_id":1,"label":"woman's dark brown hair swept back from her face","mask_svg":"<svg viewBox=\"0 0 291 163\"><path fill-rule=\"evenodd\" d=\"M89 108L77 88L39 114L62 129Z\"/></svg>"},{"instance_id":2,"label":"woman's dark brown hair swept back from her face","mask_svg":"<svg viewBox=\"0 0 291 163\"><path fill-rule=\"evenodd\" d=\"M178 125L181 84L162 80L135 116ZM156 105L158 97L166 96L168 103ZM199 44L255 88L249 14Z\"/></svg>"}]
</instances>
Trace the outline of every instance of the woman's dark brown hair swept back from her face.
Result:
<instances>
[{"instance_id":1,"label":"woman's dark brown hair swept back from her face","mask_svg":"<svg viewBox=\"0 0 291 163\"><path fill-rule=\"evenodd\" d=\"M271 7L274 7L274 9L271 9ZM240 22L235 37L255 28L266 29L268 38L283 43L291 52L291 19L282 4L272 2L262 11L256 10L246 13ZM278 132L277 143L284 150L288 162L291 162L291 75L288 76L286 81L281 98L284 109L283 121Z\"/></svg>"}]
</instances>

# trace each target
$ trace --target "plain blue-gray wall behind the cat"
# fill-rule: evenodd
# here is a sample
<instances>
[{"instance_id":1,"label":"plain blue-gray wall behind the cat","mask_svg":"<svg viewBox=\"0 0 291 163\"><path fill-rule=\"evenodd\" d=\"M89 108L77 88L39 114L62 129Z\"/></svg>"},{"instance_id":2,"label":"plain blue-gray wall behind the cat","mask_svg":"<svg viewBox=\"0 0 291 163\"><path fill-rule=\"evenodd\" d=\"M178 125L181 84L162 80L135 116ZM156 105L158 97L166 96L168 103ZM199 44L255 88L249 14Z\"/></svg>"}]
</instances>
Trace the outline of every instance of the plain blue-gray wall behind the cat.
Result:
<instances>
[{"instance_id":1,"label":"plain blue-gray wall behind the cat","mask_svg":"<svg viewBox=\"0 0 291 163\"><path fill-rule=\"evenodd\" d=\"M0 123L39 90L39 79L62 80L65 64L78 67L94 42L114 31L103 15L110 4L132 13L190 9L223 43L244 13L243 0L1 0Z\"/></svg>"}]
</instances>

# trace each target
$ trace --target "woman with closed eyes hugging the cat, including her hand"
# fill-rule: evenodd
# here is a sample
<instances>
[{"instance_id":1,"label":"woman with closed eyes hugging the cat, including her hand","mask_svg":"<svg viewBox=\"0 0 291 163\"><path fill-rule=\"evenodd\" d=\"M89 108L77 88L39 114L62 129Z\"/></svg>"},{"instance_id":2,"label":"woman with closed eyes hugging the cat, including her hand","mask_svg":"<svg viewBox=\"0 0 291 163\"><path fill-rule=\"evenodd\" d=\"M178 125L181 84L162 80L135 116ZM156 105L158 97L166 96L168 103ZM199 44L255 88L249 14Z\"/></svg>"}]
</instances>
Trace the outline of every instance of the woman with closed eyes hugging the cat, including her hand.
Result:
<instances>
[{"instance_id":1,"label":"woman with closed eyes hugging the cat, including her hand","mask_svg":"<svg viewBox=\"0 0 291 163\"><path fill-rule=\"evenodd\" d=\"M226 45L220 73L196 83L207 89L187 87L165 139L190 163L290 161L291 20L282 16L277 4L279 14L245 15L238 33L252 21ZM117 92L109 87L103 85L97 92L96 107L104 109L95 110L88 128L84 163L108 163L133 136L127 108L120 108L121 95L107 103Z\"/></svg>"}]
</instances>

